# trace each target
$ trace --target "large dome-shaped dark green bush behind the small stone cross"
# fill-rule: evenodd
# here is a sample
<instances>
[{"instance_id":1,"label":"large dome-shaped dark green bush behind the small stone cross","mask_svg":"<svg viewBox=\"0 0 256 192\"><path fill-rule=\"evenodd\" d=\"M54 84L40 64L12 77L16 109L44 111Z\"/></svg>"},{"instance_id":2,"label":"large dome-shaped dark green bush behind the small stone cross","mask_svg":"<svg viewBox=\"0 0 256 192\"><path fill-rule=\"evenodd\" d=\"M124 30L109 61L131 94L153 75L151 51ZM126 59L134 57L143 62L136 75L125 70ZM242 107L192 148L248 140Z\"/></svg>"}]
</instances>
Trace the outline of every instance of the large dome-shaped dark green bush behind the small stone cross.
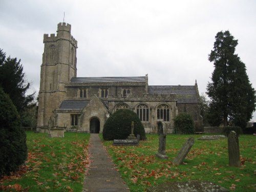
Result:
<instances>
[{"instance_id":1,"label":"large dome-shaped dark green bush behind the small stone cross","mask_svg":"<svg viewBox=\"0 0 256 192\"><path fill-rule=\"evenodd\" d=\"M140 139L146 139L145 130L136 113L122 109L116 111L106 120L103 127L103 139L126 139L131 134L131 124L134 121L134 135L140 135Z\"/></svg>"}]
</instances>

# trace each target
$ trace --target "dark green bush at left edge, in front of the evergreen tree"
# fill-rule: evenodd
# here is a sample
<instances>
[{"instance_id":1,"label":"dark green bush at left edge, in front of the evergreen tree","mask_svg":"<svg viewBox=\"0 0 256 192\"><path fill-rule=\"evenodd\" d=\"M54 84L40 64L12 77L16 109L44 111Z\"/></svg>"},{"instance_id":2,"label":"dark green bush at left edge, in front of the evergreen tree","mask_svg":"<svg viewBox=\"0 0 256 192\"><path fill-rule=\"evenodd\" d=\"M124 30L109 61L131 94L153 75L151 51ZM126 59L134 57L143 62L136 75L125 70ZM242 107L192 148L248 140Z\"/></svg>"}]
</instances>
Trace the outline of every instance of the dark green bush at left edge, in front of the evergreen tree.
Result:
<instances>
[{"instance_id":1,"label":"dark green bush at left edge, in front of the evergreen tree","mask_svg":"<svg viewBox=\"0 0 256 192\"><path fill-rule=\"evenodd\" d=\"M0 176L14 172L27 158L26 134L9 96L0 88Z\"/></svg>"}]
</instances>

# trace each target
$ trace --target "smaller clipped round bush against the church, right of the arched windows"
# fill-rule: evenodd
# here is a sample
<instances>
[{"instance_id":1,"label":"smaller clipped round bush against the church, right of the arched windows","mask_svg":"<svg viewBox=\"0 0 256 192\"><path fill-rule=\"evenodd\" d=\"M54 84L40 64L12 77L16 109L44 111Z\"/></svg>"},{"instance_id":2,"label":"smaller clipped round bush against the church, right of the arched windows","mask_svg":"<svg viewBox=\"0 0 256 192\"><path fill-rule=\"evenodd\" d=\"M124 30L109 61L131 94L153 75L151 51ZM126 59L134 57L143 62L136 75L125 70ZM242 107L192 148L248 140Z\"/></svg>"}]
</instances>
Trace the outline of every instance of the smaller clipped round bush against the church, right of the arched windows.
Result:
<instances>
[{"instance_id":1,"label":"smaller clipped round bush against the church, right of the arched windows","mask_svg":"<svg viewBox=\"0 0 256 192\"><path fill-rule=\"evenodd\" d=\"M194 134L195 125L188 113L181 113L174 119L175 134Z\"/></svg>"}]
</instances>

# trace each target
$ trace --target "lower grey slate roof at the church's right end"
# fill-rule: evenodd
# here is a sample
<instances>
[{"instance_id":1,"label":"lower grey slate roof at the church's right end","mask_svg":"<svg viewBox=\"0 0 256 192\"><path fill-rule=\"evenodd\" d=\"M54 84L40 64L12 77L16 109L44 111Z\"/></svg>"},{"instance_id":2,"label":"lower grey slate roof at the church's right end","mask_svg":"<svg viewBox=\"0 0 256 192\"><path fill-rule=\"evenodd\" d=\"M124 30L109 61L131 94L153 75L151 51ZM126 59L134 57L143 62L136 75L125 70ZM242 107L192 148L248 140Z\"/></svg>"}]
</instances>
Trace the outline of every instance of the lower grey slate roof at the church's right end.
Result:
<instances>
[{"instance_id":1,"label":"lower grey slate roof at the church's right end","mask_svg":"<svg viewBox=\"0 0 256 192\"><path fill-rule=\"evenodd\" d=\"M178 103L198 103L196 86L148 86L149 94L176 94Z\"/></svg>"}]
</instances>

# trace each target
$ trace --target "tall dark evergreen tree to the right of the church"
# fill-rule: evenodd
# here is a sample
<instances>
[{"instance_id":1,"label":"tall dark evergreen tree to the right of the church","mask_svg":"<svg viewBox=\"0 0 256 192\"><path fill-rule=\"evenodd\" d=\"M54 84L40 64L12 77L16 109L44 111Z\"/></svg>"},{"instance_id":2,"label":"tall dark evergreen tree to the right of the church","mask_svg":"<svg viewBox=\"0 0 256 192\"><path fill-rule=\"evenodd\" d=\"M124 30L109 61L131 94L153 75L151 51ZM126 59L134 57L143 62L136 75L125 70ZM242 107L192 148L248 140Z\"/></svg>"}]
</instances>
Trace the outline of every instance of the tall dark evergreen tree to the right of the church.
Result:
<instances>
[{"instance_id":1,"label":"tall dark evergreen tree to the right of the church","mask_svg":"<svg viewBox=\"0 0 256 192\"><path fill-rule=\"evenodd\" d=\"M209 61L214 72L207 85L210 98L208 121L211 125L245 127L255 111L255 91L246 74L245 64L234 54L238 40L229 31L218 32Z\"/></svg>"}]
</instances>

